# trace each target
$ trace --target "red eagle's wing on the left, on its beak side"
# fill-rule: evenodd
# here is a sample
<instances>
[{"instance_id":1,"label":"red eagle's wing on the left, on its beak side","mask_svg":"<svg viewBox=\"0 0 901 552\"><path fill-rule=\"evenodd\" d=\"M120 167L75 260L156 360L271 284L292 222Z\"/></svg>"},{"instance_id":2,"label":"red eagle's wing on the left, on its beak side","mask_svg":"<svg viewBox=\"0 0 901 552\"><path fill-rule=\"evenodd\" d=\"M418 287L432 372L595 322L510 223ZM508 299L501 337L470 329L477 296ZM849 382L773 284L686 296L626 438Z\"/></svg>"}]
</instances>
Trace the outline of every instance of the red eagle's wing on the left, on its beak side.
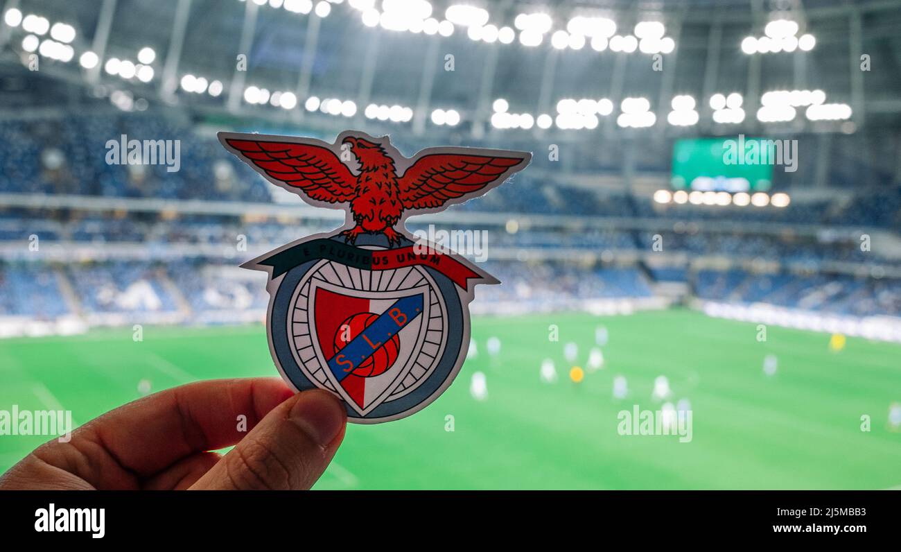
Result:
<instances>
[{"instance_id":1,"label":"red eagle's wing on the left, on its beak side","mask_svg":"<svg viewBox=\"0 0 901 552\"><path fill-rule=\"evenodd\" d=\"M356 197L357 178L328 148L234 138L226 138L225 143L260 173L299 188L310 198L342 203Z\"/></svg>"}]
</instances>

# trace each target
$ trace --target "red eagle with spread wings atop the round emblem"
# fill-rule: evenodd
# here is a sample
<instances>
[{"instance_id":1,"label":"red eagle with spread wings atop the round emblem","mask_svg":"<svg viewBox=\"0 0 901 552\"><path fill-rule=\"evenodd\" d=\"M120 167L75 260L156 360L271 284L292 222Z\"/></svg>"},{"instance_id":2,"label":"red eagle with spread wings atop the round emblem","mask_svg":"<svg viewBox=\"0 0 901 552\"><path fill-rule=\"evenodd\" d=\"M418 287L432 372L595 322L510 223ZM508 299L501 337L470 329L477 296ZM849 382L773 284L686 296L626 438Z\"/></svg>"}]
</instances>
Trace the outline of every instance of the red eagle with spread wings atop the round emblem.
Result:
<instances>
[{"instance_id":1,"label":"red eagle with spread wings atop the round emblem","mask_svg":"<svg viewBox=\"0 0 901 552\"><path fill-rule=\"evenodd\" d=\"M395 225L405 211L441 210L446 203L481 195L524 168L531 158L526 152L433 148L406 159L387 136L367 140L359 133L347 134L341 145L334 146L259 134L220 133L220 140L282 188L303 193L314 202L349 203L356 225L341 235L350 244L363 233L384 234L389 244L400 244ZM356 157L356 170L341 161L353 161L345 152ZM405 165L400 174L398 161Z\"/></svg>"}]
</instances>

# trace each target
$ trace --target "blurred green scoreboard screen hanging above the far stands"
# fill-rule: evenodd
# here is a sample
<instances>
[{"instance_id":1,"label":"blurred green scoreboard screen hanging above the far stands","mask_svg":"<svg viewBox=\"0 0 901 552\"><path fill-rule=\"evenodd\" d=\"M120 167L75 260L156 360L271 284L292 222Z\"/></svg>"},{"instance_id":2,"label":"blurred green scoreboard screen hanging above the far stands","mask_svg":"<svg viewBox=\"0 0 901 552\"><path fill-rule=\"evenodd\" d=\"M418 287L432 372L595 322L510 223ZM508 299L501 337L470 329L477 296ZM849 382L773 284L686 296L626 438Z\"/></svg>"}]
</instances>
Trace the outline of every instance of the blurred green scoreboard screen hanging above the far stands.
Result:
<instances>
[{"instance_id":1,"label":"blurred green scoreboard screen hanging above the far stands","mask_svg":"<svg viewBox=\"0 0 901 552\"><path fill-rule=\"evenodd\" d=\"M742 136L743 138L743 136ZM747 141L759 139L749 138ZM765 191L773 178L773 165L744 162L736 156L741 140L735 138L695 138L673 145L673 189L715 191Z\"/></svg>"}]
</instances>

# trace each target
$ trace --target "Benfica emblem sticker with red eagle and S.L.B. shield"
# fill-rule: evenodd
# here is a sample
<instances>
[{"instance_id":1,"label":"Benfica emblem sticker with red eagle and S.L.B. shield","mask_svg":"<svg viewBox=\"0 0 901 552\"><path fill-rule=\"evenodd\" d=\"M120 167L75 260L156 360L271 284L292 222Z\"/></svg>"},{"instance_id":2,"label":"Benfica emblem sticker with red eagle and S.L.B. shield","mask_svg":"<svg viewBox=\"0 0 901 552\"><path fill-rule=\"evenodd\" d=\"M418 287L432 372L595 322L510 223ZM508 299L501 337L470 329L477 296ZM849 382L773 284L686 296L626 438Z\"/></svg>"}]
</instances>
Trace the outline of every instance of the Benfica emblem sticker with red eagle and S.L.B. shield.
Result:
<instances>
[{"instance_id":1,"label":"Benfica emblem sticker with red eagle and S.L.B. shield","mask_svg":"<svg viewBox=\"0 0 901 552\"><path fill-rule=\"evenodd\" d=\"M429 148L405 158L387 136L346 131L335 143L219 133L223 146L276 186L345 224L266 253L269 351L296 391L318 387L348 419L404 418L447 389L469 349L469 302L500 283L475 264L405 228L502 184L527 152Z\"/></svg>"}]
</instances>

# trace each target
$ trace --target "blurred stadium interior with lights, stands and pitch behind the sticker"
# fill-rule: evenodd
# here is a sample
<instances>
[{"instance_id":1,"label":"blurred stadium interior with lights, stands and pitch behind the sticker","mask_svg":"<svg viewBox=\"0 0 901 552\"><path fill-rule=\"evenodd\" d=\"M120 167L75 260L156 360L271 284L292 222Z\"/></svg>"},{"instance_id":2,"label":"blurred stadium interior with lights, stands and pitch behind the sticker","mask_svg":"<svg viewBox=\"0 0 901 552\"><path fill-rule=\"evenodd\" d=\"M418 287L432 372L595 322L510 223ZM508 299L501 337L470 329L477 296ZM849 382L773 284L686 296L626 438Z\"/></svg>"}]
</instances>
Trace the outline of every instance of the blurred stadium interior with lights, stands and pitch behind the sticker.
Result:
<instances>
[{"instance_id":1,"label":"blurred stadium interior with lights, stands and pitch behind the sticker","mask_svg":"<svg viewBox=\"0 0 901 552\"><path fill-rule=\"evenodd\" d=\"M0 7L0 409L278 375L240 265L344 215L216 133L354 129L532 162L408 221L502 283L315 489L901 486L901 2Z\"/></svg>"}]
</instances>

